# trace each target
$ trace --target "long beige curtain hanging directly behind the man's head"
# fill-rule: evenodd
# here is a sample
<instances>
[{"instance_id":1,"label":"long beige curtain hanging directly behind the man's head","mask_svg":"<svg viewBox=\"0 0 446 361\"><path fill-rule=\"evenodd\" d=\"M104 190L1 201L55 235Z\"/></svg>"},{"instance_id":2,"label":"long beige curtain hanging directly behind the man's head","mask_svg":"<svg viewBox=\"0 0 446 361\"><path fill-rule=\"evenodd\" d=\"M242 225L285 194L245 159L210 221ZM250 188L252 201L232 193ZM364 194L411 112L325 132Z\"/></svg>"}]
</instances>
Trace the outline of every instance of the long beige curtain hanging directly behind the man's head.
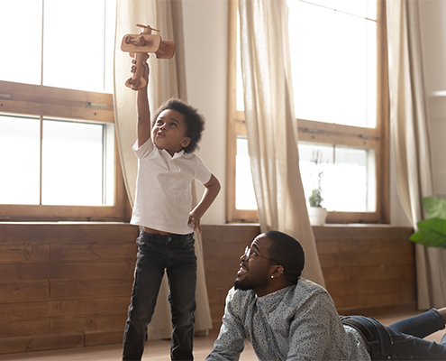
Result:
<instances>
[{"instance_id":1,"label":"long beige curtain hanging directly behind the man's head","mask_svg":"<svg viewBox=\"0 0 446 361\"><path fill-rule=\"evenodd\" d=\"M305 250L304 276L324 285L299 171L286 0L240 0L245 116L260 229Z\"/></svg>"}]
</instances>

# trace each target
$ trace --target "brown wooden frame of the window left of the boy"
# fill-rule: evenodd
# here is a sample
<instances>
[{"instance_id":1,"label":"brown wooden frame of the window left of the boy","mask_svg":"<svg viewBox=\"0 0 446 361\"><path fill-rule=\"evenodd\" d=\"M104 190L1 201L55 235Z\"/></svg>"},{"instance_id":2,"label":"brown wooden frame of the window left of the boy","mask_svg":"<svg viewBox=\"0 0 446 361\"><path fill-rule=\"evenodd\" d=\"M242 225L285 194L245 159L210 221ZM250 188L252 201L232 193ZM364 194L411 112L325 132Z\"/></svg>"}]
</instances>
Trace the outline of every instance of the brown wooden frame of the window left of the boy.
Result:
<instances>
[{"instance_id":1,"label":"brown wooden frame of the window left of the boy","mask_svg":"<svg viewBox=\"0 0 446 361\"><path fill-rule=\"evenodd\" d=\"M113 95L0 80L0 113L59 117L114 124ZM113 206L47 206L0 204L0 221L123 221L129 218L118 146L114 139Z\"/></svg>"}]
</instances>

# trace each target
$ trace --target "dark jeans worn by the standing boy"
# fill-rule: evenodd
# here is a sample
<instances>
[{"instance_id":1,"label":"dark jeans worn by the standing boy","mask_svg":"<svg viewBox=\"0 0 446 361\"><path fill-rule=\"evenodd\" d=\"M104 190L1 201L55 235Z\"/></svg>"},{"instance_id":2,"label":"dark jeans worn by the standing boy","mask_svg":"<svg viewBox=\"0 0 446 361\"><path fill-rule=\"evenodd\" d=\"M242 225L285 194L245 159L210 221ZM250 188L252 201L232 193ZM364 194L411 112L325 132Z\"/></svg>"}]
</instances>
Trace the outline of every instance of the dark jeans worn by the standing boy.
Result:
<instances>
[{"instance_id":1,"label":"dark jeans worn by the standing boy","mask_svg":"<svg viewBox=\"0 0 446 361\"><path fill-rule=\"evenodd\" d=\"M142 230L136 243L138 255L123 336L123 360L141 360L147 325L155 310L165 269L172 315L170 356L173 360L193 360L196 310L194 234L162 236Z\"/></svg>"}]
</instances>

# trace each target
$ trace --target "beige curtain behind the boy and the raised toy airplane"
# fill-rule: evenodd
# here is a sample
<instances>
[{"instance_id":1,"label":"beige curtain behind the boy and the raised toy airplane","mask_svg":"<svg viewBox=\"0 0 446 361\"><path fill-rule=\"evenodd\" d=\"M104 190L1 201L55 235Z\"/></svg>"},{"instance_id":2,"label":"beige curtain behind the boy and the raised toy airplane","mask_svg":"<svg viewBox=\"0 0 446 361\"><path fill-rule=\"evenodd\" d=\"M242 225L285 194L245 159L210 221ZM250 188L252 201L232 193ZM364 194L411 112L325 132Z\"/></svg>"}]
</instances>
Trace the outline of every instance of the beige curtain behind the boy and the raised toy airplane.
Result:
<instances>
[{"instance_id":1,"label":"beige curtain behind the boy and the raised toy airplane","mask_svg":"<svg viewBox=\"0 0 446 361\"><path fill-rule=\"evenodd\" d=\"M175 41L177 49L171 60L156 60L156 56L150 54L150 109L154 112L168 97L181 97L187 101L182 3L177 0L117 0L116 11L114 121L125 186L133 204L138 168L136 156L132 152L132 144L136 140L136 92L124 86L125 80L132 75L130 72L132 58L128 53L121 51L121 42L123 35L141 31L141 28L136 26L137 23L158 29L163 40ZM197 233L196 256L198 260L195 329L196 333L206 333L208 329L212 329L212 319L205 287L202 240ZM167 295L168 284L164 277L157 307L148 329L149 339L170 338L170 309Z\"/></svg>"}]
</instances>

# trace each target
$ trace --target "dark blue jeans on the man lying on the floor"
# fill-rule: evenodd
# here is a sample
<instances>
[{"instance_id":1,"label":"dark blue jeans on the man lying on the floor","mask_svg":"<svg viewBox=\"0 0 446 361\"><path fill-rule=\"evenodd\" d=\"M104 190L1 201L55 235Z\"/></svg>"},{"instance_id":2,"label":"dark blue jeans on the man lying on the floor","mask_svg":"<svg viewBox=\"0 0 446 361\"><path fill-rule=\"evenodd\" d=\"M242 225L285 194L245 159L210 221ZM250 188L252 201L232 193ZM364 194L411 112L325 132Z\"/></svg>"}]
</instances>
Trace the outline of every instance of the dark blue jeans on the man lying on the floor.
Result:
<instances>
[{"instance_id":1,"label":"dark blue jeans on the man lying on the floor","mask_svg":"<svg viewBox=\"0 0 446 361\"><path fill-rule=\"evenodd\" d=\"M425 340L426 336L444 329L437 310L383 326L376 319L350 316L357 319L372 334L377 360L446 360L446 346ZM377 342L378 341L378 342Z\"/></svg>"}]
</instances>

